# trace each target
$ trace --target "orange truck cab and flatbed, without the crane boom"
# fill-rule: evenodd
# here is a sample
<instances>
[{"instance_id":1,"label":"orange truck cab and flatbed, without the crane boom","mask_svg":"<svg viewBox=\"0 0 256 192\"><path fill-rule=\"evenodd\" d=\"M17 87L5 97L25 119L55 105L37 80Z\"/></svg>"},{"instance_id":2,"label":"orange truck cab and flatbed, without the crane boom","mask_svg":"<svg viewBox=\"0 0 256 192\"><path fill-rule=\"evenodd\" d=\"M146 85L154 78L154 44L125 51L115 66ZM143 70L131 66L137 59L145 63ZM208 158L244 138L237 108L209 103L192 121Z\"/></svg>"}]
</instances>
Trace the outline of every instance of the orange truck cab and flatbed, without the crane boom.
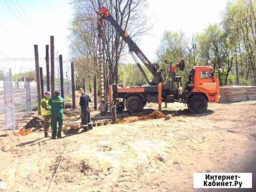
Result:
<instances>
[{"instance_id":1,"label":"orange truck cab and flatbed, without the crane boom","mask_svg":"<svg viewBox=\"0 0 256 192\"><path fill-rule=\"evenodd\" d=\"M175 71L175 68L171 68L172 72ZM161 102L182 102L186 103L192 112L195 112L193 107L203 105L201 110L203 112L207 109L207 102L219 102L219 80L210 66L196 66L192 71L191 81L186 84L185 90L181 88L179 80L175 82L169 81L165 84L160 83L158 86L148 85L123 88L118 87L118 85L110 85L110 104L115 104L117 99L122 98L123 103L126 103L125 106L128 109L131 106L133 107L134 100L136 100L138 106L140 105L138 102L142 103L142 106L139 108L141 110L149 102L158 103L159 109L161 108ZM181 77L176 78L179 79ZM180 93L180 91L183 92ZM196 103L197 101L195 100L201 100L201 104L199 101L199 104Z\"/></svg>"}]
</instances>

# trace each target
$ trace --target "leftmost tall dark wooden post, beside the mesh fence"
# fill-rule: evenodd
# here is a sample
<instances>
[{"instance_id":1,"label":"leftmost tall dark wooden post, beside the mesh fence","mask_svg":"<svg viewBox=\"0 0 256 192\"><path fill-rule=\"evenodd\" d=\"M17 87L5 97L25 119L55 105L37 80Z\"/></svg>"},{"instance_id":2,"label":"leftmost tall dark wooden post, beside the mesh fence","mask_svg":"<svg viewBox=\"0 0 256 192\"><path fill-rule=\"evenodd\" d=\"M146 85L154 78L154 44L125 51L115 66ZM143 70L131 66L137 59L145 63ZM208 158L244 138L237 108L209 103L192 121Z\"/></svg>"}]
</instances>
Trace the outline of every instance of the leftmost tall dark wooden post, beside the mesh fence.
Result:
<instances>
[{"instance_id":1,"label":"leftmost tall dark wooden post, beside the mesh fence","mask_svg":"<svg viewBox=\"0 0 256 192\"><path fill-rule=\"evenodd\" d=\"M38 59L38 46L34 45L35 51L35 63L36 63L36 75L37 75L37 103L38 103L38 115L41 115L41 84L40 84L40 71L39 71L39 59Z\"/></svg>"}]
</instances>

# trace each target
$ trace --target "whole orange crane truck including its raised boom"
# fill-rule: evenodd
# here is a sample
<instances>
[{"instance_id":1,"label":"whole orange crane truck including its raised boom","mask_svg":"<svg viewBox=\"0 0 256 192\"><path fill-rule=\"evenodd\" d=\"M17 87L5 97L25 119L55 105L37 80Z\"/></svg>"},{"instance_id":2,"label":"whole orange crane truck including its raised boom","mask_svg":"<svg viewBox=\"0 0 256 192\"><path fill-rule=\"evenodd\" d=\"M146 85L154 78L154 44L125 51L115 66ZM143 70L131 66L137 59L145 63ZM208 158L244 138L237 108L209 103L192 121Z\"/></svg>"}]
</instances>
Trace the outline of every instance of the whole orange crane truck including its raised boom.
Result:
<instances>
[{"instance_id":1,"label":"whole orange crane truck including its raised boom","mask_svg":"<svg viewBox=\"0 0 256 192\"><path fill-rule=\"evenodd\" d=\"M189 72L189 80L183 90L181 87L181 77L176 76L175 71L176 69L183 71L185 68L185 61L181 59L179 63L171 65L165 60L165 65L168 71L168 80L165 80L164 82L159 65L157 63L152 64L149 61L136 43L129 37L128 33L125 32L111 16L107 8L102 7L97 13L103 19L109 21L128 44L129 52L149 84L128 88L119 87L118 85L110 85L109 100L111 104L117 105L119 102L118 99L123 99L122 106L125 106L129 113L135 113L142 111L143 107L150 102L159 103L159 106L161 106L161 102L181 102L187 104L188 109L192 113L201 113L207 109L208 102L219 102L219 80L214 74L212 67L193 67ZM149 81L134 53L154 76L151 81Z\"/></svg>"}]
</instances>

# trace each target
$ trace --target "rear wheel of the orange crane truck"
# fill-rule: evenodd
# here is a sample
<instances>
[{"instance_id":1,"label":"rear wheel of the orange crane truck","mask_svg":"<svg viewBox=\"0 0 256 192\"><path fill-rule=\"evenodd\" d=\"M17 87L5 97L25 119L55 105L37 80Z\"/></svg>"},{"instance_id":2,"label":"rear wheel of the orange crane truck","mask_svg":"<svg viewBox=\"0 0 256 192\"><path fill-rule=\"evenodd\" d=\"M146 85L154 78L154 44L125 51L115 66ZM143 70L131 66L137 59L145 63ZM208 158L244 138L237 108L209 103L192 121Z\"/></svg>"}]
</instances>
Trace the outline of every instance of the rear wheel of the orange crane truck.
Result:
<instances>
[{"instance_id":1,"label":"rear wheel of the orange crane truck","mask_svg":"<svg viewBox=\"0 0 256 192\"><path fill-rule=\"evenodd\" d=\"M139 96L129 96L125 100L125 107L129 113L140 112L143 109L143 101Z\"/></svg>"}]
</instances>

